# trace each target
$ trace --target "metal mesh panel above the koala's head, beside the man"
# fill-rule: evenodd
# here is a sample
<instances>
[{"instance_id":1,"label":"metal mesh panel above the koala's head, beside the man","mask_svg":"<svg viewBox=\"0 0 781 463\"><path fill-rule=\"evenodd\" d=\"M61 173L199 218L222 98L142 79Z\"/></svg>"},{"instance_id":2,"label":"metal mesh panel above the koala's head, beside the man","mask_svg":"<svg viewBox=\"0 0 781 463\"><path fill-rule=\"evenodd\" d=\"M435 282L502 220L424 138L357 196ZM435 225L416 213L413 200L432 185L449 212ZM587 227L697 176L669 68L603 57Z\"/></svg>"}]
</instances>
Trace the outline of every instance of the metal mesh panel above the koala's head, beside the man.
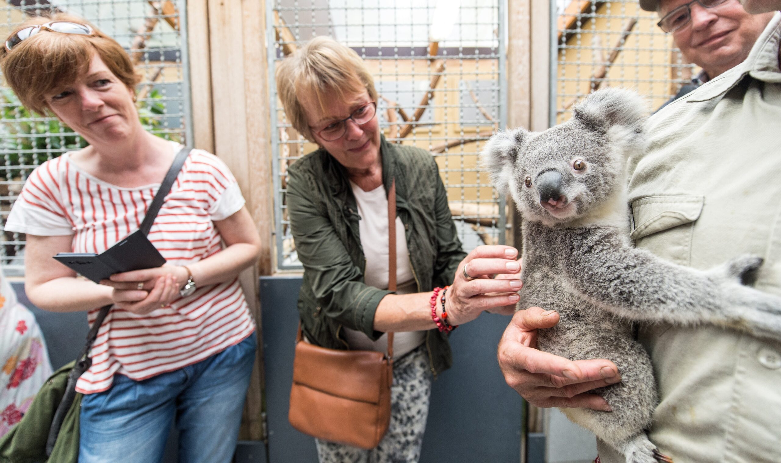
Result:
<instances>
[{"instance_id":1,"label":"metal mesh panel above the koala's head, beside the man","mask_svg":"<svg viewBox=\"0 0 781 463\"><path fill-rule=\"evenodd\" d=\"M608 86L636 90L657 109L696 75L672 36L657 27L658 15L637 0L558 0L557 7L552 123L569 119L580 98Z\"/></svg>"}]
</instances>

